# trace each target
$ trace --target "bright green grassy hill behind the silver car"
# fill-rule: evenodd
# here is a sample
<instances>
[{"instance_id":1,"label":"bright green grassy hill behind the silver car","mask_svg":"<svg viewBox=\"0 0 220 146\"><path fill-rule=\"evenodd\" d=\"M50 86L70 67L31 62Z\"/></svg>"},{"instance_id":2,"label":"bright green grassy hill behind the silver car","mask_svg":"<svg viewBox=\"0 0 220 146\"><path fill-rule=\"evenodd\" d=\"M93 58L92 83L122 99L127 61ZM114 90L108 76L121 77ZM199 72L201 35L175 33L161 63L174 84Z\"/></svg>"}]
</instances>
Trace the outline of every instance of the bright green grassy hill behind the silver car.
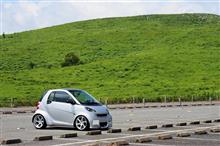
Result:
<instances>
[{"instance_id":1,"label":"bright green grassy hill behind the silver car","mask_svg":"<svg viewBox=\"0 0 220 146\"><path fill-rule=\"evenodd\" d=\"M34 104L50 88L109 102L220 96L220 16L106 18L0 37L0 106ZM61 67L74 52L80 65Z\"/></svg>"}]
</instances>

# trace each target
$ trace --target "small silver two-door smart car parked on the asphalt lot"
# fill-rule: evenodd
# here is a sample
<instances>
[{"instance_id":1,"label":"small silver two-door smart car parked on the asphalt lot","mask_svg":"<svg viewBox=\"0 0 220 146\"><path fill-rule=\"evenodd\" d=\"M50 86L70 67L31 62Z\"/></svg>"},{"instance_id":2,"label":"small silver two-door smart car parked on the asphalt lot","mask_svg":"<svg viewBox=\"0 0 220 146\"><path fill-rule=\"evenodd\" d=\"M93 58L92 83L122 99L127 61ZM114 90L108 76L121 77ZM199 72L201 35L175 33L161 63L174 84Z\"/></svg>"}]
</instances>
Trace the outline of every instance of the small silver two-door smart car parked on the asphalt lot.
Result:
<instances>
[{"instance_id":1,"label":"small silver two-door smart car parked on the asphalt lot","mask_svg":"<svg viewBox=\"0 0 220 146\"><path fill-rule=\"evenodd\" d=\"M44 93L33 115L35 128L74 127L78 130L112 127L106 106L79 89L54 89Z\"/></svg>"}]
</instances>

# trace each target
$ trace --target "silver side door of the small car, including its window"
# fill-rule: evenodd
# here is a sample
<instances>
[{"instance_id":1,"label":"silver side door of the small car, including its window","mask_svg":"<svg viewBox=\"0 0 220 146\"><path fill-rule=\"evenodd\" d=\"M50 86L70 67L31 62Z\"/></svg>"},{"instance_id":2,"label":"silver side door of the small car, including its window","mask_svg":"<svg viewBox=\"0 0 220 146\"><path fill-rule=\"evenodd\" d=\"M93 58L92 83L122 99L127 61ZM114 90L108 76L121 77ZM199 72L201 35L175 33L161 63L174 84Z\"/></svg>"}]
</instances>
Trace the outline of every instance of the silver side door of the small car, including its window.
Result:
<instances>
[{"instance_id":1,"label":"silver side door of the small car, including its window","mask_svg":"<svg viewBox=\"0 0 220 146\"><path fill-rule=\"evenodd\" d=\"M72 97L64 91L55 91L49 95L47 111L54 119L55 124L73 125L74 105L67 103L70 99Z\"/></svg>"}]
</instances>

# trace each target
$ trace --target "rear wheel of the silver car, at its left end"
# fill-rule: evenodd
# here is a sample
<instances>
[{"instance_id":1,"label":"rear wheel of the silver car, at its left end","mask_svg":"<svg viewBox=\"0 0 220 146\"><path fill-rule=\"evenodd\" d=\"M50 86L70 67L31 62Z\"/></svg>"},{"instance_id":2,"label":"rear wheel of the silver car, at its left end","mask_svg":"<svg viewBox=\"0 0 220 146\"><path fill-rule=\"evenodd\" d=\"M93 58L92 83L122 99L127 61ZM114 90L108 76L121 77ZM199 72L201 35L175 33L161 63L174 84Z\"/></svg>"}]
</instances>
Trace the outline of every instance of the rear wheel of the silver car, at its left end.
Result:
<instances>
[{"instance_id":1,"label":"rear wheel of the silver car, at its left end","mask_svg":"<svg viewBox=\"0 0 220 146\"><path fill-rule=\"evenodd\" d=\"M37 114L33 118L33 124L36 129L44 129L47 126L44 116Z\"/></svg>"}]
</instances>

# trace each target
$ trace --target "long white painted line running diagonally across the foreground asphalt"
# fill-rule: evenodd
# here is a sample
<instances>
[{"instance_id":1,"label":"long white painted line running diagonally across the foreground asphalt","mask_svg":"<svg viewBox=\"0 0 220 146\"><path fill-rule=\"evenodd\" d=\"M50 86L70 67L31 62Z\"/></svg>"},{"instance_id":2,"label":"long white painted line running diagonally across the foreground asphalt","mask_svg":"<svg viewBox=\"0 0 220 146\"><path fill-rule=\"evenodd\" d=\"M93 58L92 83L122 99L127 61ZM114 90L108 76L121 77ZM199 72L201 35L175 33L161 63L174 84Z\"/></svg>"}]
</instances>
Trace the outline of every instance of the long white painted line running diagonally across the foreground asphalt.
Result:
<instances>
[{"instance_id":1,"label":"long white painted line running diagonally across the foreground asphalt","mask_svg":"<svg viewBox=\"0 0 220 146\"><path fill-rule=\"evenodd\" d=\"M192 132L195 130L206 130L210 128L216 128L217 126L210 126L210 127L199 127L199 128L191 128L191 129L183 129L183 130L172 130L172 131L166 131L166 132L158 132L158 133L148 133L148 134L140 134L140 135L129 135L129 136L122 136L122 137L117 137L117 138L104 138L104 139L99 139L99 140L88 140L88 141L83 141L83 142L72 142L72 143L65 143L65 144L56 144L52 146L68 146L68 145L74 145L74 144L86 144L86 143L93 143L93 142L103 142L103 141L111 141L111 140L120 140L120 139L127 139L127 138L135 138L135 137L143 137L143 136L158 136L161 134L173 134L177 132Z\"/></svg>"}]
</instances>

